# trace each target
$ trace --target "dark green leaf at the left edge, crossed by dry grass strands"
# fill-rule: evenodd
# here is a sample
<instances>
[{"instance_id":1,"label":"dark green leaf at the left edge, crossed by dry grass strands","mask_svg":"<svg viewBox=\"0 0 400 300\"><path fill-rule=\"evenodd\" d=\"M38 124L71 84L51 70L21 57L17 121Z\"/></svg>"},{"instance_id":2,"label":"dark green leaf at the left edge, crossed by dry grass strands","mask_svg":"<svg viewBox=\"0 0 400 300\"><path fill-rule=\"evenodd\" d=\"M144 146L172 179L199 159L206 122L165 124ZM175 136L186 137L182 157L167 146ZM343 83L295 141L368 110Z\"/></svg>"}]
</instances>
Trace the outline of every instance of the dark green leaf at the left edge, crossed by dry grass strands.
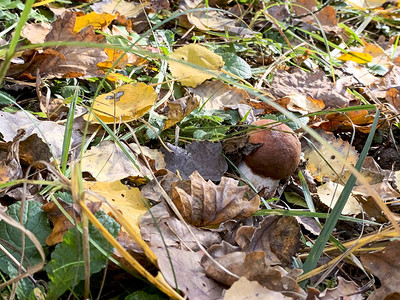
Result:
<instances>
[{"instance_id":1,"label":"dark green leaf at the left edge, crossed by dry grass strands","mask_svg":"<svg viewBox=\"0 0 400 300\"><path fill-rule=\"evenodd\" d=\"M46 247L46 238L51 233L51 228L46 214L40 209L42 205L36 201L26 201L22 214L23 226L31 231L43 247ZM8 207L7 215L19 222L21 203L15 203ZM0 221L0 243L17 260L21 261L22 235L21 231L4 221ZM39 252L32 241L25 237L24 253L25 269L38 264L41 261ZM18 273L16 266L3 252L0 251L0 270L11 278ZM20 299L27 299L34 285L30 279L25 278L18 284L17 295Z\"/></svg>"}]
</instances>

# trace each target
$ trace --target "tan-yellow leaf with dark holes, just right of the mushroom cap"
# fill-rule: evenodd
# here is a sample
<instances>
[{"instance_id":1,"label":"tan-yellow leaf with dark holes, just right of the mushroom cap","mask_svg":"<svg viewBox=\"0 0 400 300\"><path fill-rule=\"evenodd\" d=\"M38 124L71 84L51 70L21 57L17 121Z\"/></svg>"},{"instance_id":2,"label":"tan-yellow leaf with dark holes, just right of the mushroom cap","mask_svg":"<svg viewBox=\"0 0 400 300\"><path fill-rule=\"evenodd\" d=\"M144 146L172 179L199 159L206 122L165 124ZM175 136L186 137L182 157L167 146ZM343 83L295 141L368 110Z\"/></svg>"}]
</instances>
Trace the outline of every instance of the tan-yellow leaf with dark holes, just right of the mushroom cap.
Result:
<instances>
[{"instance_id":1,"label":"tan-yellow leaf with dark holes, just right of the mushroom cap","mask_svg":"<svg viewBox=\"0 0 400 300\"><path fill-rule=\"evenodd\" d=\"M354 147L341 139L336 139L333 134L318 131L320 135L325 137L325 140L339 153L343 155L346 161L355 165L358 160L358 154ZM314 149L313 147L316 147ZM332 154L327 147L314 143L314 146L308 146L304 150L304 156L307 161L307 169L311 175L318 181L337 181L339 178L345 182L350 176L350 172L346 169L343 163Z\"/></svg>"}]
</instances>

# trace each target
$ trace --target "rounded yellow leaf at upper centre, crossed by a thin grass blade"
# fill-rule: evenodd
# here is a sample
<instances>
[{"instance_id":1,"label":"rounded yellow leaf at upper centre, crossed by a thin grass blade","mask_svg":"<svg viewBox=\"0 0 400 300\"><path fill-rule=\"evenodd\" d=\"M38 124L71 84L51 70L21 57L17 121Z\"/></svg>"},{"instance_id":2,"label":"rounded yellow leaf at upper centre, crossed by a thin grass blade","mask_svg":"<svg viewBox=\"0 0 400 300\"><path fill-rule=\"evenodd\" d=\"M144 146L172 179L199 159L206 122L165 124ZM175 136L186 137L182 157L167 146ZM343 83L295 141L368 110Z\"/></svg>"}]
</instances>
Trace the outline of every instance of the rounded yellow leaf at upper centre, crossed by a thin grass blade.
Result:
<instances>
[{"instance_id":1,"label":"rounded yellow leaf at upper centre, crossed by a thin grass blade","mask_svg":"<svg viewBox=\"0 0 400 300\"><path fill-rule=\"evenodd\" d=\"M205 80L217 76L224 66L221 56L197 44L180 47L169 57L171 59L168 60L168 64L172 76L177 78L182 85L190 87L196 87ZM187 63L197 65L198 68L189 66ZM202 69L207 69L207 71Z\"/></svg>"}]
</instances>

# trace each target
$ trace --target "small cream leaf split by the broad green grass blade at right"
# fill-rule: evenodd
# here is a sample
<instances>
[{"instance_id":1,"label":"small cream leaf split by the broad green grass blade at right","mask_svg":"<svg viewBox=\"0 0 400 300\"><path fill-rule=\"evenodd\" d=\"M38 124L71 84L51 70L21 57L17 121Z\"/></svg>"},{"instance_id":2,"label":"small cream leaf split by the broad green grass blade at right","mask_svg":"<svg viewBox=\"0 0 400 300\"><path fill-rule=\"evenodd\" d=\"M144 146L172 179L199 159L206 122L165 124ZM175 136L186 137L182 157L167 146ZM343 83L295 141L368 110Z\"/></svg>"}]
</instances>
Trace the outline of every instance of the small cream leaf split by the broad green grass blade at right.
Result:
<instances>
[{"instance_id":1,"label":"small cream leaf split by the broad green grass blade at right","mask_svg":"<svg viewBox=\"0 0 400 300\"><path fill-rule=\"evenodd\" d=\"M339 183L328 181L327 183L317 187L318 196L322 203L333 208L342 193L344 186ZM346 205L342 210L344 215L358 215L362 212L362 206L353 195L347 199Z\"/></svg>"}]
</instances>

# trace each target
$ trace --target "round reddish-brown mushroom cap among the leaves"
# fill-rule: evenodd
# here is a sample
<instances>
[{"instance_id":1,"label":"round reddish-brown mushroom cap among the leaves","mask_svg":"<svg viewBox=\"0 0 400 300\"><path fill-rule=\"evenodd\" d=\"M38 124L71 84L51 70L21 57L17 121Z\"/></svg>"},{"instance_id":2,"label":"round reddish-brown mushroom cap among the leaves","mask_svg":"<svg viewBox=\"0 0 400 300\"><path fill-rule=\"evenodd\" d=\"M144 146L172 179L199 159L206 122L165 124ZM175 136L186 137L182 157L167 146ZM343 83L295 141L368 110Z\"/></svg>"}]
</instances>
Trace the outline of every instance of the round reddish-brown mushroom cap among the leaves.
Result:
<instances>
[{"instance_id":1,"label":"round reddish-brown mushroom cap among the leaves","mask_svg":"<svg viewBox=\"0 0 400 300\"><path fill-rule=\"evenodd\" d=\"M251 125L261 126L274 122L276 121L262 119ZM286 178L296 170L300 162L300 141L285 124L276 123L266 129L254 130L250 133L248 143L263 144L245 157L246 164L259 176Z\"/></svg>"}]
</instances>

